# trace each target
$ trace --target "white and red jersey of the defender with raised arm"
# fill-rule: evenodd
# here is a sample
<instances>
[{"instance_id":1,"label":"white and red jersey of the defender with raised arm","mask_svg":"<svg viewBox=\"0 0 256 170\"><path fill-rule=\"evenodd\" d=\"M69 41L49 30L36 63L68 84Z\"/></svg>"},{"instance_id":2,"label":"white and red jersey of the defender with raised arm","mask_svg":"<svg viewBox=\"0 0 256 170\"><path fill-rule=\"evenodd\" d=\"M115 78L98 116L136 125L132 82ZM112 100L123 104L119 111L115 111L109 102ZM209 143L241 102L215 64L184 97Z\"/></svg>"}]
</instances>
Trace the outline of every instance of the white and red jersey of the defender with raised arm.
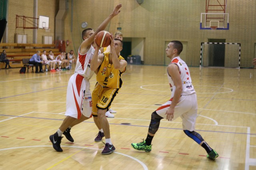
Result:
<instances>
[{"instance_id":1,"label":"white and red jersey of the defender with raised arm","mask_svg":"<svg viewBox=\"0 0 256 170\"><path fill-rule=\"evenodd\" d=\"M94 71L91 71L91 68L90 68L91 60L94 55L94 52L95 52L95 49L92 47L92 45L90 49L87 51L87 53L85 54L80 54L80 47L78 50L78 58L76 62L75 73L80 74L87 80L89 80L94 74ZM100 51L98 52L98 54L100 54Z\"/></svg>"}]
</instances>

